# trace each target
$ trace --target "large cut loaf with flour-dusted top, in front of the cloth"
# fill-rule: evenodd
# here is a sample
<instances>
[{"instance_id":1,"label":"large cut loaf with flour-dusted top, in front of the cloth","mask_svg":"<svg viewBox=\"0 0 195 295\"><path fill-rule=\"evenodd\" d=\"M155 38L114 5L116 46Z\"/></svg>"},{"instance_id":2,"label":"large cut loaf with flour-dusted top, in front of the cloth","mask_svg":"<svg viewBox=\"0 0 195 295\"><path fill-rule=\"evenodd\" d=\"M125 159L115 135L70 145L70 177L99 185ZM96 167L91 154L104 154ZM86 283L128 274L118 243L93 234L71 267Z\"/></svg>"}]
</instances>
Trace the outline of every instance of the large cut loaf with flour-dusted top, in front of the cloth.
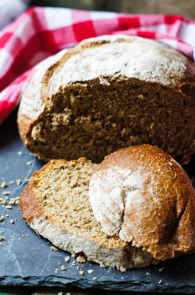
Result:
<instances>
[{"instance_id":1,"label":"large cut loaf with flour-dusted top, in front of the cloth","mask_svg":"<svg viewBox=\"0 0 195 295\"><path fill-rule=\"evenodd\" d=\"M41 71L41 70L40 70ZM159 42L101 36L67 49L24 91L20 135L39 159L152 144L188 163L195 151L195 64Z\"/></svg>"}]
</instances>

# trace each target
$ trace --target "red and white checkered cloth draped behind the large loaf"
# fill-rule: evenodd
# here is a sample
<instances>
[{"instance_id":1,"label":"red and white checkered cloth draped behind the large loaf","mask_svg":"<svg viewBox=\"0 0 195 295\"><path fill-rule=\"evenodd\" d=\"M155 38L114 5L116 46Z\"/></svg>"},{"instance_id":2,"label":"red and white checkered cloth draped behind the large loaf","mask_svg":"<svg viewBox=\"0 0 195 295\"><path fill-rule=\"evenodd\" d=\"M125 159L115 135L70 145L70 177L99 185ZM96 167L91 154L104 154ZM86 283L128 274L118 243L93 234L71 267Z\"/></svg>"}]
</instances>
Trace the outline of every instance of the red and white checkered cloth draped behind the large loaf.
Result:
<instances>
[{"instance_id":1,"label":"red and white checkered cloth draped behind the large loaf","mask_svg":"<svg viewBox=\"0 0 195 295\"><path fill-rule=\"evenodd\" d=\"M38 62L82 39L119 33L152 38L195 58L195 21L187 18L34 7L0 32L0 123L18 105Z\"/></svg>"}]
</instances>

